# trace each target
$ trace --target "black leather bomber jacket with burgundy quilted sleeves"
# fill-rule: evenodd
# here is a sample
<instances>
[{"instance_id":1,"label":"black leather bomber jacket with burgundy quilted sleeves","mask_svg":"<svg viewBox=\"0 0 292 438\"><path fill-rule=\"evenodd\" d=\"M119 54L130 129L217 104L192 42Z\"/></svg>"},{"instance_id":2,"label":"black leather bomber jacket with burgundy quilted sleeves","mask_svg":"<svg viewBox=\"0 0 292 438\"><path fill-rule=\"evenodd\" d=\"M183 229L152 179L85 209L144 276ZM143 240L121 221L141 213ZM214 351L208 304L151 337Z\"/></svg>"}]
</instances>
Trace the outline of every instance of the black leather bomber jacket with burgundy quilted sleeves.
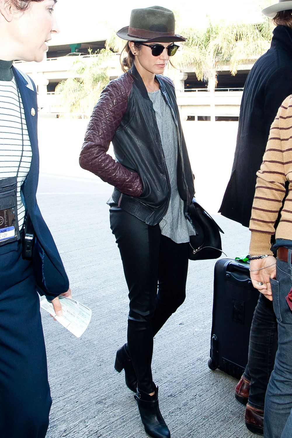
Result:
<instances>
[{"instance_id":1,"label":"black leather bomber jacket with burgundy quilted sleeves","mask_svg":"<svg viewBox=\"0 0 292 438\"><path fill-rule=\"evenodd\" d=\"M157 75L162 96L177 127L177 187L184 212L193 199L193 173L186 150L172 81ZM112 141L115 161L106 152ZM112 184L113 200L148 225L164 217L170 198L169 175L155 111L140 74L122 74L104 88L93 109L79 158L80 166Z\"/></svg>"}]
</instances>

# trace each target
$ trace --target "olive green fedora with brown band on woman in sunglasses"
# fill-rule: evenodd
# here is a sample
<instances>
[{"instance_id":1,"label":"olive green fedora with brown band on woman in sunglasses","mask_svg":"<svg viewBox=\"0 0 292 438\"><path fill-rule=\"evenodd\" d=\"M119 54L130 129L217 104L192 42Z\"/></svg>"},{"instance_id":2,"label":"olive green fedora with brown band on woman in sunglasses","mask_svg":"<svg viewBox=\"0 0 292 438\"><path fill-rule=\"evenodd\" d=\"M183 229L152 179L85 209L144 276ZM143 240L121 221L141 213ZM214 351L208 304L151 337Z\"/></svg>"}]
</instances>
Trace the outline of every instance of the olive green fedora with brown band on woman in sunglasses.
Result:
<instances>
[{"instance_id":1,"label":"olive green fedora with brown band on woman in sunglasses","mask_svg":"<svg viewBox=\"0 0 292 438\"><path fill-rule=\"evenodd\" d=\"M141 42L176 42L186 41L174 33L174 14L162 6L133 9L130 26L116 32L122 39Z\"/></svg>"}]
</instances>

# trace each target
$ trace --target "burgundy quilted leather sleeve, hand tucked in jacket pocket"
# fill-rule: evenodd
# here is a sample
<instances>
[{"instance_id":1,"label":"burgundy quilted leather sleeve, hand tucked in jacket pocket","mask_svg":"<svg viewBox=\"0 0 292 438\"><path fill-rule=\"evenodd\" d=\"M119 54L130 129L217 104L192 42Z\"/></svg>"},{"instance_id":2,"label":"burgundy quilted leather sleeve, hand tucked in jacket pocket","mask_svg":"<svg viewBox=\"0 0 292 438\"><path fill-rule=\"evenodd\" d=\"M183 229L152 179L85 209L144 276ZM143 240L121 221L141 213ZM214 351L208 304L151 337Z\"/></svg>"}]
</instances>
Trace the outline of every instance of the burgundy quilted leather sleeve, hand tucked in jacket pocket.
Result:
<instances>
[{"instance_id":1,"label":"burgundy quilted leather sleeve, hand tucked in jacket pocket","mask_svg":"<svg viewBox=\"0 0 292 438\"><path fill-rule=\"evenodd\" d=\"M106 152L127 109L133 78L121 76L103 90L91 114L79 164L120 192L139 197L143 190L138 173L130 172Z\"/></svg>"}]
</instances>

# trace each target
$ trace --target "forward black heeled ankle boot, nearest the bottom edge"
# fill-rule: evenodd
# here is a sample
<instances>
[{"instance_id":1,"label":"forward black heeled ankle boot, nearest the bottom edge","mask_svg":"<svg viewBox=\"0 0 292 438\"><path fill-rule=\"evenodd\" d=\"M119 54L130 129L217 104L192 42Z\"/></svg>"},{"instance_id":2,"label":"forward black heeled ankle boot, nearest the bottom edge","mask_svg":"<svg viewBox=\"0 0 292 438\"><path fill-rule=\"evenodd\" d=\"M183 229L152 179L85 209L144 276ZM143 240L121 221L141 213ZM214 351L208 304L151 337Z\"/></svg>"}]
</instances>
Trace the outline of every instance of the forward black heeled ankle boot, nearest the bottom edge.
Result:
<instances>
[{"instance_id":1,"label":"forward black heeled ankle boot, nearest the bottom edge","mask_svg":"<svg viewBox=\"0 0 292 438\"><path fill-rule=\"evenodd\" d=\"M155 386L154 396L149 396L146 392L137 388L134 395L137 400L138 408L144 429L150 438L170 438L169 428L161 415L158 404L158 386Z\"/></svg>"}]
</instances>

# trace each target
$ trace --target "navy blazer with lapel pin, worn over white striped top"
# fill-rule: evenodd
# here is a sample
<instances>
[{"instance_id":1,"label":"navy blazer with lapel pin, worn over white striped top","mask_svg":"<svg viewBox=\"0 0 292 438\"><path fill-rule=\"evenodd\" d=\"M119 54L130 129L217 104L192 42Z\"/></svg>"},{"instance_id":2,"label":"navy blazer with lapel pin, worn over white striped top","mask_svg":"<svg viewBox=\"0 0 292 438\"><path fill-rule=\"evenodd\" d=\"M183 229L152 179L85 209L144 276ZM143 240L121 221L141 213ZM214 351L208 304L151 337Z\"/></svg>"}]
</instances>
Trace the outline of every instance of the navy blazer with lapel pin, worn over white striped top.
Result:
<instances>
[{"instance_id":1,"label":"navy blazer with lapel pin, worn over white striped top","mask_svg":"<svg viewBox=\"0 0 292 438\"><path fill-rule=\"evenodd\" d=\"M25 208L27 209L35 229L36 241L33 265L37 283L37 290L52 300L69 288L69 280L65 272L60 254L56 248L53 237L42 218L36 201L36 190L39 180L39 148L37 137L38 106L37 93L33 82L25 79L16 68L14 76L21 95L25 112L25 121L32 146L32 162L28 176L21 186ZM33 87L32 90L29 87ZM35 115L33 115L35 114Z\"/></svg>"}]
</instances>

